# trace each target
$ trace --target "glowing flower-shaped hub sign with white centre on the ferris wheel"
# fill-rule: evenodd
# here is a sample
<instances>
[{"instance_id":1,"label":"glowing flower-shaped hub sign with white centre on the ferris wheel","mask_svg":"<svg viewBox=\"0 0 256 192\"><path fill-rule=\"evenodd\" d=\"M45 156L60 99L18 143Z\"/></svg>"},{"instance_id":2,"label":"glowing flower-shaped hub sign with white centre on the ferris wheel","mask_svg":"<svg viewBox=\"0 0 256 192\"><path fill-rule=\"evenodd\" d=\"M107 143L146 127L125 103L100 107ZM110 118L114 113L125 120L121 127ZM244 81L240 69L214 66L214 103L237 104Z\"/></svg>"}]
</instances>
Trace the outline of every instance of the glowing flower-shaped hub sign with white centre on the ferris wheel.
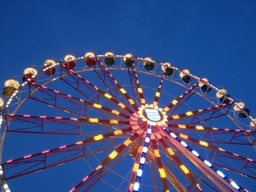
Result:
<instances>
[{"instance_id":1,"label":"glowing flower-shaped hub sign with white centre on the ferris wheel","mask_svg":"<svg viewBox=\"0 0 256 192\"><path fill-rule=\"evenodd\" d=\"M151 126L165 126L167 122L167 115L162 108L158 106L147 105L138 108L139 117L143 122L147 122Z\"/></svg>"}]
</instances>

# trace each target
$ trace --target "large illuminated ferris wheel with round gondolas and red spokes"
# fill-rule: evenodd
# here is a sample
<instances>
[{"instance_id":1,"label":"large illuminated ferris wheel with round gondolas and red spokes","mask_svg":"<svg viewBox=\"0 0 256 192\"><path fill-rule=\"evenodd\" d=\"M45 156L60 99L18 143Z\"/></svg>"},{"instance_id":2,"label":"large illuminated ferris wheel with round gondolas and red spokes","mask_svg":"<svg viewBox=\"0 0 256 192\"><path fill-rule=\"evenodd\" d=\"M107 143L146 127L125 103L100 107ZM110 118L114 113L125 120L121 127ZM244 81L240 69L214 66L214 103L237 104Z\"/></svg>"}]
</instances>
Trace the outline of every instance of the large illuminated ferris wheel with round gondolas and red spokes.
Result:
<instances>
[{"instance_id":1,"label":"large illuminated ferris wheel with round gondolas and red spokes","mask_svg":"<svg viewBox=\"0 0 256 192\"><path fill-rule=\"evenodd\" d=\"M188 69L88 52L21 79L0 99L2 191L255 190L256 120Z\"/></svg>"}]
</instances>

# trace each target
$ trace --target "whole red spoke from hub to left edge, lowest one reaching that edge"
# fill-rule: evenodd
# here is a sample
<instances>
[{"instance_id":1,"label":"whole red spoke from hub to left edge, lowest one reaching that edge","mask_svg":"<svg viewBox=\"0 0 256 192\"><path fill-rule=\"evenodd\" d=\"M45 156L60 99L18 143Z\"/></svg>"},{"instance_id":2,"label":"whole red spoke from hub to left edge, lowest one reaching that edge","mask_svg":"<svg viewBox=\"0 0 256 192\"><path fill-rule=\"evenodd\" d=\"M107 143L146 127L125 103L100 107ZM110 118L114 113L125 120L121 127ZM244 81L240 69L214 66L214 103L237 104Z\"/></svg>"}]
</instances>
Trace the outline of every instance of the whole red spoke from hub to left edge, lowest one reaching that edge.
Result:
<instances>
[{"instance_id":1,"label":"whole red spoke from hub to left edge, lowest one reaching that edge","mask_svg":"<svg viewBox=\"0 0 256 192\"><path fill-rule=\"evenodd\" d=\"M7 162L2 163L2 170L5 173L6 179L11 179L26 174L36 173L53 166L59 166L66 162L93 155L91 152L85 153L86 145L94 142L101 142L107 138L118 137L119 135L129 133L131 130L133 130L132 127L124 130L114 130L111 133L98 134L94 137L67 146L60 146L52 150L44 150L42 153L30 154L22 158L8 160ZM94 149L94 154L102 153L105 150L111 150L114 147L113 142L110 142L110 145L107 145L106 142L104 145L103 144L98 149Z\"/></svg>"}]
</instances>

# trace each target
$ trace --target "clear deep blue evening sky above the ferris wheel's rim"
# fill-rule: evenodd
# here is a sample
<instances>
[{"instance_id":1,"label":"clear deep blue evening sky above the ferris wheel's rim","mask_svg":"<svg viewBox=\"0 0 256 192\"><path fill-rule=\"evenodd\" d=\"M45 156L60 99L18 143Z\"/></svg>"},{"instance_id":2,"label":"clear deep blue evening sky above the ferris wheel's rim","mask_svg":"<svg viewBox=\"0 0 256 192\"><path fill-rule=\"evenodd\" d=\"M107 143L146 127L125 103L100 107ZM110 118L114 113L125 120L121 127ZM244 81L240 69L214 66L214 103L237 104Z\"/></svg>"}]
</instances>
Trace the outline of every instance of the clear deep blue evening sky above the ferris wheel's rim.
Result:
<instances>
[{"instance_id":1,"label":"clear deep blue evening sky above the ferris wheel's rim","mask_svg":"<svg viewBox=\"0 0 256 192\"><path fill-rule=\"evenodd\" d=\"M131 52L206 76L256 116L254 0L2 0L0 7L2 86L50 57Z\"/></svg>"}]
</instances>

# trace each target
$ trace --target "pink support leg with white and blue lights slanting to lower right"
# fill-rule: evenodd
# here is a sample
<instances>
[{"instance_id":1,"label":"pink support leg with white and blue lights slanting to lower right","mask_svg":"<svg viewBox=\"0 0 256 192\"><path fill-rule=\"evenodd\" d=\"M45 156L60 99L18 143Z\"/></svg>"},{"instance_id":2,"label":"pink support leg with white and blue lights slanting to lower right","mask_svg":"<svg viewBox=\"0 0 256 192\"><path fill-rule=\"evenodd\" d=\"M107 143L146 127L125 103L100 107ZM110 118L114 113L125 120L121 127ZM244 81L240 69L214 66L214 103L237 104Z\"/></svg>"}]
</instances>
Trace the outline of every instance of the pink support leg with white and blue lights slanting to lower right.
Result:
<instances>
[{"instance_id":1,"label":"pink support leg with white and blue lights slanting to lower right","mask_svg":"<svg viewBox=\"0 0 256 192\"><path fill-rule=\"evenodd\" d=\"M210 179L220 190L226 191L226 189L232 191L246 191L242 186L239 186L232 179L228 178L222 171L218 170L213 164L208 162L202 155L193 150L186 142L183 142L181 138L178 138L172 131L162 128L166 132L166 137L170 139L170 142L186 156L207 178Z\"/></svg>"}]
</instances>

